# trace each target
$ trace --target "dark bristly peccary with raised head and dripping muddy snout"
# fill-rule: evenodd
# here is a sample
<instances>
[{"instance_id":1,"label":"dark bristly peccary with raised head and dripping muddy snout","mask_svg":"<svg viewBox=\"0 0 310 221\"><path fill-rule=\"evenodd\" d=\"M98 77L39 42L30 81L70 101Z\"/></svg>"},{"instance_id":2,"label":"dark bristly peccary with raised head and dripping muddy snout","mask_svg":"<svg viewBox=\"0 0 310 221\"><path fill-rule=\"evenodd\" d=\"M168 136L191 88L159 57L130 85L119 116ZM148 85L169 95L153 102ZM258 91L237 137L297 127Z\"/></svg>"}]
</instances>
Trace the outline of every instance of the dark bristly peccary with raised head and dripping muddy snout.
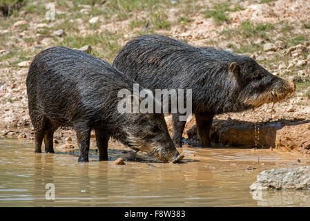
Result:
<instances>
[{"instance_id":1,"label":"dark bristly peccary with raised head and dripping muddy snout","mask_svg":"<svg viewBox=\"0 0 310 221\"><path fill-rule=\"evenodd\" d=\"M120 50L113 66L142 87L192 89L192 111L202 146L210 146L213 116L278 102L295 86L255 60L211 47L197 48L161 35L142 35ZM173 114L173 142L182 146L186 122Z\"/></svg>"}]
</instances>

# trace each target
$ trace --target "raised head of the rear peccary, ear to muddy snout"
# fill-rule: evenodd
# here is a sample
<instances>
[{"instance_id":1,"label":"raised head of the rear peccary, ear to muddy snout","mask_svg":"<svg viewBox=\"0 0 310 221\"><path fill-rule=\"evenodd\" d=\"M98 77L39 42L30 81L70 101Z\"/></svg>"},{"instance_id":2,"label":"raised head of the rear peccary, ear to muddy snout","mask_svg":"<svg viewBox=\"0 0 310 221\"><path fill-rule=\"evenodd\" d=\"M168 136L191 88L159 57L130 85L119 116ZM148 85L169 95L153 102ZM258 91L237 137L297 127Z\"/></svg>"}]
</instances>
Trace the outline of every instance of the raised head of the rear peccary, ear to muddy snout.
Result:
<instances>
[{"instance_id":1,"label":"raised head of the rear peccary, ear to muddy snout","mask_svg":"<svg viewBox=\"0 0 310 221\"><path fill-rule=\"evenodd\" d=\"M280 102L295 91L293 81L276 77L254 59L241 56L229 64L229 74L240 87L237 99L240 103L257 108L262 104Z\"/></svg>"}]
</instances>

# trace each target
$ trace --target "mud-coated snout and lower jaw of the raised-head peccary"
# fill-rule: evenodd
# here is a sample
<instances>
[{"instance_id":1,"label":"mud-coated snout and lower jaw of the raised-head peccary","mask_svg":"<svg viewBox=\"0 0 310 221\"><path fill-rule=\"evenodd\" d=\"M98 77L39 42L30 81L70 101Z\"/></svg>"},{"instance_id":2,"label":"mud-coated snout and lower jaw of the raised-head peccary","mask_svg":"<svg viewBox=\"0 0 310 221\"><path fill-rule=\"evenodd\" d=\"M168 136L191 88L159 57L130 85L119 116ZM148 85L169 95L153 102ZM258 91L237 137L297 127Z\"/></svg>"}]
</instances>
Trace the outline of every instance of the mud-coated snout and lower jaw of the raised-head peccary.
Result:
<instances>
[{"instance_id":1,"label":"mud-coated snout and lower jaw of the raised-head peccary","mask_svg":"<svg viewBox=\"0 0 310 221\"><path fill-rule=\"evenodd\" d=\"M247 99L244 103L258 108L263 104L276 103L287 98L295 91L295 84L293 81L284 80L281 86L267 90L267 92L255 94Z\"/></svg>"}]
</instances>

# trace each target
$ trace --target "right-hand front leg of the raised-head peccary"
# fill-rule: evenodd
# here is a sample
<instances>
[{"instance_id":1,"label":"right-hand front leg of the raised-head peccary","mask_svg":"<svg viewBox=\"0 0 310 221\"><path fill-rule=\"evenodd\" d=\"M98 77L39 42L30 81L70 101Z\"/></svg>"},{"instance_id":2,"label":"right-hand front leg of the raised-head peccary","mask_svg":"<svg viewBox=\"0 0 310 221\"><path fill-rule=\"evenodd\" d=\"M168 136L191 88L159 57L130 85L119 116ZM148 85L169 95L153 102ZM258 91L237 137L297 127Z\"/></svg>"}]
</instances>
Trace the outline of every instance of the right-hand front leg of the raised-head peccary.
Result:
<instances>
[{"instance_id":1,"label":"right-hand front leg of the raised-head peccary","mask_svg":"<svg viewBox=\"0 0 310 221\"><path fill-rule=\"evenodd\" d=\"M202 147L211 146L210 130L213 122L213 114L195 113L198 135Z\"/></svg>"}]
</instances>

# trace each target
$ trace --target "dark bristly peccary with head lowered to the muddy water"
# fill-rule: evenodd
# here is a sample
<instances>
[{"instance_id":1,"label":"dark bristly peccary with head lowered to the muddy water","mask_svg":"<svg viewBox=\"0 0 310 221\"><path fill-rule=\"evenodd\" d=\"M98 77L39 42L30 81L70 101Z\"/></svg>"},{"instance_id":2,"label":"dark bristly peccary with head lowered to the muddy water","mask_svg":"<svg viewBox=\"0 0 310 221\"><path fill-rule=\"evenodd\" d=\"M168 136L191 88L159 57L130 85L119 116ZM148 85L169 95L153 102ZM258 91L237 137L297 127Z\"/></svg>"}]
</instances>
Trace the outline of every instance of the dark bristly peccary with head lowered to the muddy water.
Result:
<instances>
[{"instance_id":1,"label":"dark bristly peccary with head lowered to the muddy water","mask_svg":"<svg viewBox=\"0 0 310 221\"><path fill-rule=\"evenodd\" d=\"M164 115L121 114L117 93L130 90L135 81L106 61L64 47L40 52L27 77L29 113L35 128L35 153L54 153L53 133L70 126L77 133L79 162L88 161L90 131L95 129L99 160L108 160L108 140L151 153L165 162L179 153L168 133Z\"/></svg>"}]
</instances>

